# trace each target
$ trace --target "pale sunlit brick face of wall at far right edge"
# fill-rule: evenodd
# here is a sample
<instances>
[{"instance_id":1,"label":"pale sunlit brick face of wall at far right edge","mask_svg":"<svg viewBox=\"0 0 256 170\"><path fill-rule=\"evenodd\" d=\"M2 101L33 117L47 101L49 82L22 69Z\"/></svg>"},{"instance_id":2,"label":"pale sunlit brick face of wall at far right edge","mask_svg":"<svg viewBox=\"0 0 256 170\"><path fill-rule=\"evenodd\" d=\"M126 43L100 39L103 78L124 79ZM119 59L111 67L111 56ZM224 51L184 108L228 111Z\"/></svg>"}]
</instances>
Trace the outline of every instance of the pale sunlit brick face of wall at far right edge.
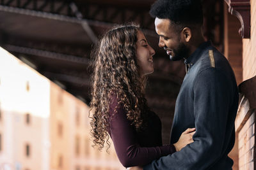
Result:
<instances>
[{"instance_id":1,"label":"pale sunlit brick face of wall at far right edge","mask_svg":"<svg viewBox=\"0 0 256 170\"><path fill-rule=\"evenodd\" d=\"M256 1L250 3L251 38L243 39L243 81L256 75ZM255 111L246 98L241 100L237 111L236 134L239 169L255 169Z\"/></svg>"}]
</instances>

